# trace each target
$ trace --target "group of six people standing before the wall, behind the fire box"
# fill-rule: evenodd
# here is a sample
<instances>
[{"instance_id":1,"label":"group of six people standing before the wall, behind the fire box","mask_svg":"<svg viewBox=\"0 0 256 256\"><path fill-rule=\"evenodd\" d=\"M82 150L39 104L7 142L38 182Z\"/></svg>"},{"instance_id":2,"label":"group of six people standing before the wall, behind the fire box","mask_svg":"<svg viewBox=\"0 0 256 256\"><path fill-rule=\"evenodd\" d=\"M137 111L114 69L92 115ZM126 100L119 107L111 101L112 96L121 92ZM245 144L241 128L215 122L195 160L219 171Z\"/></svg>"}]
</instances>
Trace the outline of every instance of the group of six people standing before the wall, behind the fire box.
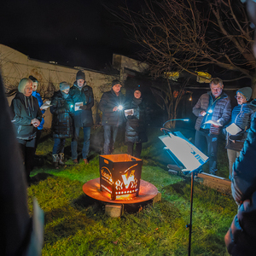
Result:
<instances>
[{"instance_id":1,"label":"group of six people standing before the wall, behind the fire box","mask_svg":"<svg viewBox=\"0 0 256 256\"><path fill-rule=\"evenodd\" d=\"M142 90L138 86L131 99L126 99L121 93L119 80L114 79L111 90L103 93L99 102L102 111L102 125L104 129L103 154L112 154L119 127L125 124L125 142L128 144L128 154L133 155L136 144L135 156L142 152L142 143L147 142L147 108L142 98ZM21 79L18 92L11 103L14 116L16 137L20 144L23 162L26 169L27 181L30 180L34 154L44 125L41 108L43 101L38 89L38 80L30 76ZM85 82L85 74L79 70L73 86L67 82L60 83L60 90L55 91L50 102L52 113L52 132L54 146L52 149L53 164L56 169L65 165L64 148L66 139L72 137L71 151L74 164L78 164L79 131L84 132L82 157L84 164L88 164L90 148L90 128L93 125L91 108L94 106L92 88ZM125 109L132 108L133 112L125 115Z\"/></svg>"}]
</instances>

